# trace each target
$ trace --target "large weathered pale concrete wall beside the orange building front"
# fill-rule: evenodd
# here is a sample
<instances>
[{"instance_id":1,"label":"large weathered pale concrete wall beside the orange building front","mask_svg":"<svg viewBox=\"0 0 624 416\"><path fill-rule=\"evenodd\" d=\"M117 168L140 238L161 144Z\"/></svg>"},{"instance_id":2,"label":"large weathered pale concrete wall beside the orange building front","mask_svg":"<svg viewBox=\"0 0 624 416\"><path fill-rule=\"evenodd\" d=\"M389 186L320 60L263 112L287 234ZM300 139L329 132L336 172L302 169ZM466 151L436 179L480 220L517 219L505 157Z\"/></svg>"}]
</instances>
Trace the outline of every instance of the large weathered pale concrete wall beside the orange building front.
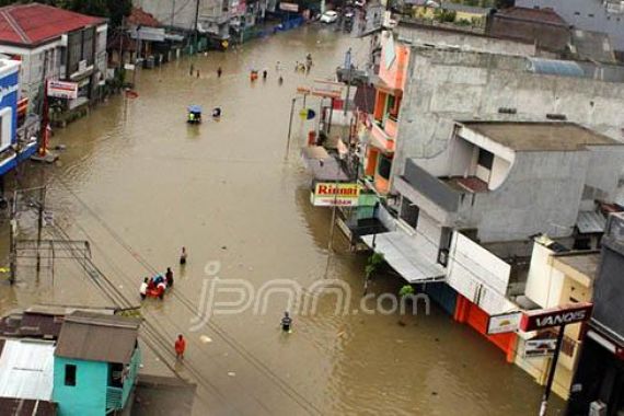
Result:
<instances>
[{"instance_id":1,"label":"large weathered pale concrete wall beside the orange building front","mask_svg":"<svg viewBox=\"0 0 624 416\"><path fill-rule=\"evenodd\" d=\"M406 158L431 158L451 137L453 120L547 120L565 114L622 140L624 83L535 74L520 57L413 47L403 96L393 174ZM501 107L515 115L499 114Z\"/></svg>"}]
</instances>

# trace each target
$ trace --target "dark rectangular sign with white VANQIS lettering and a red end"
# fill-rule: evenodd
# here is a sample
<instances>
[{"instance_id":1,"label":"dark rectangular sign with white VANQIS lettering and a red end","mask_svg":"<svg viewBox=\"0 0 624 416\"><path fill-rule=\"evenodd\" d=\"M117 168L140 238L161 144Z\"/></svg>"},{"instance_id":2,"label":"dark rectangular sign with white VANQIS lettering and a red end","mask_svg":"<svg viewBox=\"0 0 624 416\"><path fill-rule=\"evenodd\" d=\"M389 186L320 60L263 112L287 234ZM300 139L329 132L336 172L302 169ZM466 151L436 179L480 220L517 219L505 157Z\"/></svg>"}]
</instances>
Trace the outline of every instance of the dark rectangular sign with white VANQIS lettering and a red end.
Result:
<instances>
[{"instance_id":1,"label":"dark rectangular sign with white VANQIS lettering and a red end","mask_svg":"<svg viewBox=\"0 0 624 416\"><path fill-rule=\"evenodd\" d=\"M529 332L583 322L589 320L592 310L593 303L582 302L562 308L529 311L520 321L520 330Z\"/></svg>"}]
</instances>

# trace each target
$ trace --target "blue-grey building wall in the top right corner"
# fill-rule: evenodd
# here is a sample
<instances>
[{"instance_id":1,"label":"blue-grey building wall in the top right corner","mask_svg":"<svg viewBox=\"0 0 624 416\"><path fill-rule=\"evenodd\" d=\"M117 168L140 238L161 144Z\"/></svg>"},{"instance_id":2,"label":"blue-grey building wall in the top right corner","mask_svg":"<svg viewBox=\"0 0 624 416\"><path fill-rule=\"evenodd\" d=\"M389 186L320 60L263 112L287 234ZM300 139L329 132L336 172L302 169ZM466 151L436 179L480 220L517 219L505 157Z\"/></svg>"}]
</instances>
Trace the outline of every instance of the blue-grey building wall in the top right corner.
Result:
<instances>
[{"instance_id":1,"label":"blue-grey building wall in the top right corner","mask_svg":"<svg viewBox=\"0 0 624 416\"><path fill-rule=\"evenodd\" d=\"M624 50L624 14L606 13L602 0L516 0L520 8L551 8L583 31L608 33L616 50Z\"/></svg>"}]
</instances>

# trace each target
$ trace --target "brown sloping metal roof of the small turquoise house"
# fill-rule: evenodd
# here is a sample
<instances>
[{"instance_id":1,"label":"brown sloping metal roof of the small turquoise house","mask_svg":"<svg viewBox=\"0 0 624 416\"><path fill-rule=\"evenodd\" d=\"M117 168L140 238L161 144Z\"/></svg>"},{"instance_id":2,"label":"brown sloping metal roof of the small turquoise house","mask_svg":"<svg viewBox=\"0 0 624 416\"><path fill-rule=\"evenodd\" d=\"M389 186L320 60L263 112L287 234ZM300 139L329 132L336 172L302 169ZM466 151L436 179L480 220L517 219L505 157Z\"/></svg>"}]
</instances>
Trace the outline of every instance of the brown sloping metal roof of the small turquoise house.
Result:
<instances>
[{"instance_id":1,"label":"brown sloping metal roof of the small turquoise house","mask_svg":"<svg viewBox=\"0 0 624 416\"><path fill-rule=\"evenodd\" d=\"M55 355L89 361L129 363L140 320L73 312L60 330Z\"/></svg>"}]
</instances>

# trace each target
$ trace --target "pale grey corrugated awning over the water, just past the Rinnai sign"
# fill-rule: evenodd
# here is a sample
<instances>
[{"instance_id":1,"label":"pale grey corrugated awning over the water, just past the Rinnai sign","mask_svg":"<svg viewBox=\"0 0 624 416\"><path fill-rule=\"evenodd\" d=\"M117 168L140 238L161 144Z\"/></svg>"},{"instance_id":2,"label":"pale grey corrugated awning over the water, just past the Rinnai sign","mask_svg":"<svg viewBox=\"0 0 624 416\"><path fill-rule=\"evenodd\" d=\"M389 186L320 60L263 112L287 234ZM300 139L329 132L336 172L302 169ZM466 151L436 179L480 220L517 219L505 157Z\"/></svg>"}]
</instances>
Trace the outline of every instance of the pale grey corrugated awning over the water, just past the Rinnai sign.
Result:
<instances>
[{"instance_id":1,"label":"pale grey corrugated awning over the water, just past the Rinnai sign","mask_svg":"<svg viewBox=\"0 0 624 416\"><path fill-rule=\"evenodd\" d=\"M405 280L411 284L436 281L444 278L444 269L431 256L430 250L423 250L424 244L432 245L425 238L407 235L403 231L365 235L363 242L371 249L374 239L374 252L383 254L384 259Z\"/></svg>"}]
</instances>

